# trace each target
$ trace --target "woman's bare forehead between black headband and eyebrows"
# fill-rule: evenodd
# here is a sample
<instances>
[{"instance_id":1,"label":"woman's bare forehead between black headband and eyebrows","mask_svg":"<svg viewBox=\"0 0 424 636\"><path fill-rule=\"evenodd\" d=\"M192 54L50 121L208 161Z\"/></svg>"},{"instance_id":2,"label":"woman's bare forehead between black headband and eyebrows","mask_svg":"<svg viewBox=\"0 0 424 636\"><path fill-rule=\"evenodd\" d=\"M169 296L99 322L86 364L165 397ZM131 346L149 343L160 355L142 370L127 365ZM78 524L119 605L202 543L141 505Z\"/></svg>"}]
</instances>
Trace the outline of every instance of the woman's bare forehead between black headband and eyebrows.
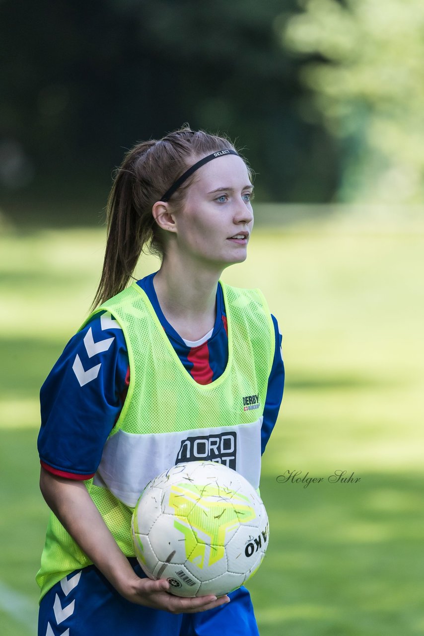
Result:
<instances>
[{"instance_id":1,"label":"woman's bare forehead between black headband and eyebrows","mask_svg":"<svg viewBox=\"0 0 424 636\"><path fill-rule=\"evenodd\" d=\"M245 188L251 183L249 171L243 159L236 155L220 156L197 170L193 186L200 188Z\"/></svg>"}]
</instances>

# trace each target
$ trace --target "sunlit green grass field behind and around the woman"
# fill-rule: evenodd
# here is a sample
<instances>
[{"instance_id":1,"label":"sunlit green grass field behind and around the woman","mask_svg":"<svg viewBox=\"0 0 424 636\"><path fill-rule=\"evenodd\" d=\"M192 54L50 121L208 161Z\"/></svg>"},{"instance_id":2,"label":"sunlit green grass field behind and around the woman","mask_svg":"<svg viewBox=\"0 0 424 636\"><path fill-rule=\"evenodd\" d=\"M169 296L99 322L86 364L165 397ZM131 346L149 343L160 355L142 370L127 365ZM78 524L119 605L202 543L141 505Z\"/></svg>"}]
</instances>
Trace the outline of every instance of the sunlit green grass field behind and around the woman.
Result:
<instances>
[{"instance_id":1,"label":"sunlit green grass field behind and around the woman","mask_svg":"<svg viewBox=\"0 0 424 636\"><path fill-rule=\"evenodd\" d=\"M264 454L271 543L250 589L263 636L424 633L423 226L258 228L224 279L259 286L284 333L284 404ZM38 391L85 317L102 230L0 237L0 625L36 633L48 511ZM146 258L139 275L153 270ZM334 471L360 481L331 483ZM322 478L283 482L286 471Z\"/></svg>"}]
</instances>

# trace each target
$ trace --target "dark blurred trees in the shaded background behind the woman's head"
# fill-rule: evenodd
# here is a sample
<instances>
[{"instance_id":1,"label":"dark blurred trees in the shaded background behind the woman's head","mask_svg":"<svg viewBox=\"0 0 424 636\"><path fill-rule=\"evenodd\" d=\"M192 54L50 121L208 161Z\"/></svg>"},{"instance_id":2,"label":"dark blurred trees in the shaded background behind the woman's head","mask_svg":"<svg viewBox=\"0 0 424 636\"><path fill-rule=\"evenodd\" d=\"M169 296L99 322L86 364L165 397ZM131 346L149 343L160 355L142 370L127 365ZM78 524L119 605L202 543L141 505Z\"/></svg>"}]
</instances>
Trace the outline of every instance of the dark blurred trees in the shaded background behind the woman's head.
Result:
<instances>
[{"instance_id":1,"label":"dark blurred trees in the shaded background behind the woman's head","mask_svg":"<svg viewBox=\"0 0 424 636\"><path fill-rule=\"evenodd\" d=\"M22 193L59 214L92 195L104 205L125 149L184 121L246 145L259 198L331 198L336 144L297 114L298 63L275 29L282 6L295 0L4 0L6 209Z\"/></svg>"}]
</instances>

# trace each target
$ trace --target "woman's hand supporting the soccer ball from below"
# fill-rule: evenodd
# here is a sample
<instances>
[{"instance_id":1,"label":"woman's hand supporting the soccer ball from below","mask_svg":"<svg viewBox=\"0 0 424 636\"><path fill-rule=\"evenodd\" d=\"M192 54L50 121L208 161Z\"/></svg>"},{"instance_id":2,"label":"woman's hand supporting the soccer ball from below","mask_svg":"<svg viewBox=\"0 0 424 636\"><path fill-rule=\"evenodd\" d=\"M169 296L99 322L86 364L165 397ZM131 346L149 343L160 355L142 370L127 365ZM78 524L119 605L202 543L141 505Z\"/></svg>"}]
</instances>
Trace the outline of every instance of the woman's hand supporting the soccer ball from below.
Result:
<instances>
[{"instance_id":1,"label":"woman's hand supporting the soccer ball from below","mask_svg":"<svg viewBox=\"0 0 424 636\"><path fill-rule=\"evenodd\" d=\"M215 595L196 598L177 597L168 592L169 583L166 579L158 581L140 579L137 574L127 581L125 587L127 589L118 591L132 603L163 609L172 614L195 614L229 603L229 597L226 595L219 598Z\"/></svg>"}]
</instances>

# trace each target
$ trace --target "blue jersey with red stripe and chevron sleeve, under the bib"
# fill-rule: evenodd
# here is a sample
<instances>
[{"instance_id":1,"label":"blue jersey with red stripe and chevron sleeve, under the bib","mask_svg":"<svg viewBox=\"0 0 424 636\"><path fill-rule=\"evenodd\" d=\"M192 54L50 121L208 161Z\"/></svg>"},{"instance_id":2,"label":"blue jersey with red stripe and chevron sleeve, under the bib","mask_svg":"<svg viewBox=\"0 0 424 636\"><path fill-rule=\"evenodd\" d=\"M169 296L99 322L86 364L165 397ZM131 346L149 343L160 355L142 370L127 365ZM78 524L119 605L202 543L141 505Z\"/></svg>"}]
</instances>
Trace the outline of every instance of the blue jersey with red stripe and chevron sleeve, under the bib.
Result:
<instances>
[{"instance_id":1,"label":"blue jersey with red stripe and chevron sleeve, under the bib","mask_svg":"<svg viewBox=\"0 0 424 636\"><path fill-rule=\"evenodd\" d=\"M214 328L197 342L183 340L169 324L153 286L154 273L139 280L186 371L198 384L214 382L228 363L226 311L217 286ZM284 387L282 336L275 317L275 355L268 380L261 429L264 451L277 420ZM107 312L99 312L69 343L41 388L41 465L50 473L87 480L97 471L130 382L123 331Z\"/></svg>"}]
</instances>

